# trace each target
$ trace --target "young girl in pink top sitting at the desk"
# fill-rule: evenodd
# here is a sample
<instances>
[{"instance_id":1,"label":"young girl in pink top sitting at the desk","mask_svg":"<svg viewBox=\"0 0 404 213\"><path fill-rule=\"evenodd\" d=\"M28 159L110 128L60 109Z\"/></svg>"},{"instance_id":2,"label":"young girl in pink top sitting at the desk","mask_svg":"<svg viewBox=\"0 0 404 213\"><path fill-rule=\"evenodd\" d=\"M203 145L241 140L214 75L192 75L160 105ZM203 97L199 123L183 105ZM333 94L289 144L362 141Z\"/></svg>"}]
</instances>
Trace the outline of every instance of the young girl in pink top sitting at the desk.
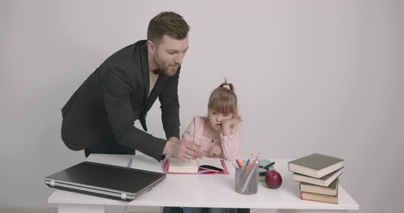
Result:
<instances>
[{"instance_id":1,"label":"young girl in pink top sitting at the desk","mask_svg":"<svg viewBox=\"0 0 404 213\"><path fill-rule=\"evenodd\" d=\"M195 116L182 134L182 140L193 141L208 158L235 160L241 155L242 119L237 111L237 96L231 83L222 83L212 91L207 104L207 117ZM183 208L186 212L202 212L202 208ZM230 212L229 208L209 208L209 212Z\"/></svg>"}]
</instances>

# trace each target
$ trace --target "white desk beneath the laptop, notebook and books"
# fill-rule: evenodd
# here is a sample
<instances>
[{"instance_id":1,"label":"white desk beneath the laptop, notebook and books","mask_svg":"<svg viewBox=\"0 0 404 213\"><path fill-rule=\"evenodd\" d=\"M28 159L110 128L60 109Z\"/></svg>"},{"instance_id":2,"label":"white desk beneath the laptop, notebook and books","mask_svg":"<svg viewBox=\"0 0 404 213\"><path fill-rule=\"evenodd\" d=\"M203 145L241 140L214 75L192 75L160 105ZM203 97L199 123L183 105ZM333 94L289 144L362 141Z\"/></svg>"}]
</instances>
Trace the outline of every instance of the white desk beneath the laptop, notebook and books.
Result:
<instances>
[{"instance_id":1,"label":"white desk beneath the laptop, notebook and books","mask_svg":"<svg viewBox=\"0 0 404 213\"><path fill-rule=\"evenodd\" d=\"M101 157L100 157L101 156ZM107 157L107 158L105 158ZM99 155L92 161L126 166L132 156ZM339 204L303 201L299 197L299 182L292 180L286 159L271 159L283 178L276 190L260 182L255 195L239 195L234 191L234 167L227 162L230 175L167 175L166 180L131 202L117 201L55 190L49 203L57 203L60 213L105 212L105 205L128 206L187 206L216 208L277 209L277 212L348 212L359 205L339 186ZM158 162L155 161L157 164ZM133 162L136 165L135 162ZM344 178L343 175L341 176Z\"/></svg>"}]
</instances>

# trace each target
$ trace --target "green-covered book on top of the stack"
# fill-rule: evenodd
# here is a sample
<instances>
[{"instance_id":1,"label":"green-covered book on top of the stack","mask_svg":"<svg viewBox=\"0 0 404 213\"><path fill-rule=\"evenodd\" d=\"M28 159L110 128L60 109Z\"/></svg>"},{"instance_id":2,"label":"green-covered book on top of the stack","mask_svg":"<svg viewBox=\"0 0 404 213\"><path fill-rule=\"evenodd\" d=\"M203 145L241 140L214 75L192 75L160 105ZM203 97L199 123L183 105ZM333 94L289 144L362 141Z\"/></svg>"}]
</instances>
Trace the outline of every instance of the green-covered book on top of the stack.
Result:
<instances>
[{"instance_id":1,"label":"green-covered book on top of the stack","mask_svg":"<svg viewBox=\"0 0 404 213\"><path fill-rule=\"evenodd\" d=\"M289 171L321 178L344 167L344 160L323 154L311 154L288 162Z\"/></svg>"}]
</instances>

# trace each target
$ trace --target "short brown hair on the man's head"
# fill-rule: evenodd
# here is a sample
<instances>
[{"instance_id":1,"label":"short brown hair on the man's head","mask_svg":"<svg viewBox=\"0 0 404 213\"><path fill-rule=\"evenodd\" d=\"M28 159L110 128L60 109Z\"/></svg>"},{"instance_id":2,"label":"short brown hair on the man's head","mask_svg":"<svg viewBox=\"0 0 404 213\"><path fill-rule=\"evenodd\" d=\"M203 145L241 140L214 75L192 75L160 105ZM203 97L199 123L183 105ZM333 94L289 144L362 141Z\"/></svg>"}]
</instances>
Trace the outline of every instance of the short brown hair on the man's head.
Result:
<instances>
[{"instance_id":1,"label":"short brown hair on the man's head","mask_svg":"<svg viewBox=\"0 0 404 213\"><path fill-rule=\"evenodd\" d=\"M147 27L147 40L159 42L164 35L168 35L177 40L186 38L190 26L184 18L175 12L161 12L151 18Z\"/></svg>"}]
</instances>

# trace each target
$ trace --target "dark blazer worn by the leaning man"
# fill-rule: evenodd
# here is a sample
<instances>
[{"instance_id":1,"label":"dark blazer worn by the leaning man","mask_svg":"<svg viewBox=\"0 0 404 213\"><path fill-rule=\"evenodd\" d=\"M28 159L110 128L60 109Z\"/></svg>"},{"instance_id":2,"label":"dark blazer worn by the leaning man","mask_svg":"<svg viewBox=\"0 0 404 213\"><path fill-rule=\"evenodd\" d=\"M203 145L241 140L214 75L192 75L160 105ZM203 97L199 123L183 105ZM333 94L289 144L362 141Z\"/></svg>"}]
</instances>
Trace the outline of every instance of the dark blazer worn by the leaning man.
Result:
<instances>
[{"instance_id":1,"label":"dark blazer worn by the leaning man","mask_svg":"<svg viewBox=\"0 0 404 213\"><path fill-rule=\"evenodd\" d=\"M84 150L114 135L126 147L160 160L165 139L145 131L147 111L159 97L167 139L179 138L179 70L174 76L160 73L149 98L147 41L131 44L106 59L84 81L62 108L62 140L71 150Z\"/></svg>"}]
</instances>

